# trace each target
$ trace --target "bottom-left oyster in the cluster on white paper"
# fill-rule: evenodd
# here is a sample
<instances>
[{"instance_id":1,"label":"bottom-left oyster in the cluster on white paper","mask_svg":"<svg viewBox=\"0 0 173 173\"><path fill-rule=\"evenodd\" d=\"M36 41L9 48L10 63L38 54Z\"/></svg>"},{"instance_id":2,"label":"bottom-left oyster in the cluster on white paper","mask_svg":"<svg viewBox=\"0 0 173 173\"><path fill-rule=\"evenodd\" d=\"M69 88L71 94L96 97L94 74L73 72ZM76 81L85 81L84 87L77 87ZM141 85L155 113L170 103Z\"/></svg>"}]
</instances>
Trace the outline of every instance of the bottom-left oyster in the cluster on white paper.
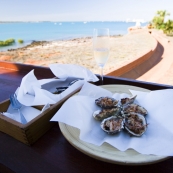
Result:
<instances>
[{"instance_id":1,"label":"bottom-left oyster in the cluster on white paper","mask_svg":"<svg viewBox=\"0 0 173 173\"><path fill-rule=\"evenodd\" d=\"M108 134L115 134L123 129L123 119L118 117L109 117L101 122L101 128Z\"/></svg>"}]
</instances>

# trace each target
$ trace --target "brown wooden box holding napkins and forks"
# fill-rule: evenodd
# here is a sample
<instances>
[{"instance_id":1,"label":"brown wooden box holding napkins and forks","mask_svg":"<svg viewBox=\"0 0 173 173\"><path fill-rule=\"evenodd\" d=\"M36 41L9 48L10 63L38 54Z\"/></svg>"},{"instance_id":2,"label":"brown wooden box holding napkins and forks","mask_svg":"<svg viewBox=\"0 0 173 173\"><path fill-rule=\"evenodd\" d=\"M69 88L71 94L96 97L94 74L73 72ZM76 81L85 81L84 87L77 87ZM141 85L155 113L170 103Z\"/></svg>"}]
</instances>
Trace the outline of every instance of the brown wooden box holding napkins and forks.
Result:
<instances>
[{"instance_id":1,"label":"brown wooden box holding napkins and forks","mask_svg":"<svg viewBox=\"0 0 173 173\"><path fill-rule=\"evenodd\" d=\"M79 89L78 89L79 90ZM21 124L11 118L6 117L0 113L0 131L12 136L13 138L23 142L26 145L31 145L37 141L43 134L45 134L55 123L50 119L59 110L61 105L70 96L75 94L78 90L66 96L61 101L51 105L49 109L29 121L27 124ZM10 100L5 100L0 103L0 112L6 112L10 104ZM41 110L43 106L33 106Z\"/></svg>"}]
</instances>

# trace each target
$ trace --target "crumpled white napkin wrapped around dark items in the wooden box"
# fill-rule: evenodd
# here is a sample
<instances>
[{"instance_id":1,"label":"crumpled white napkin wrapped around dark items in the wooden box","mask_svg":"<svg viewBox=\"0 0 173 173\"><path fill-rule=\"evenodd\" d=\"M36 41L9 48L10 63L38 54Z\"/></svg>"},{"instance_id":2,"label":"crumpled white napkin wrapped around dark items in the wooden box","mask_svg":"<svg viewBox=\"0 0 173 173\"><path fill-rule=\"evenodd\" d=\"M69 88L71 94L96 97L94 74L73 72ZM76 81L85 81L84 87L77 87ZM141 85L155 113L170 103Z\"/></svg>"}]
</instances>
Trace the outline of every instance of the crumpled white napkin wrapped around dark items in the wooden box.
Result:
<instances>
[{"instance_id":1,"label":"crumpled white napkin wrapped around dark items in the wooden box","mask_svg":"<svg viewBox=\"0 0 173 173\"><path fill-rule=\"evenodd\" d=\"M84 81L98 81L98 78L90 70L78 65L51 64L50 69L58 79L38 80L34 75L34 70L23 77L17 94L17 99L23 105L55 104L70 93L80 89ZM82 80L75 82L61 94L53 94L56 87L68 86L74 79Z\"/></svg>"}]
</instances>

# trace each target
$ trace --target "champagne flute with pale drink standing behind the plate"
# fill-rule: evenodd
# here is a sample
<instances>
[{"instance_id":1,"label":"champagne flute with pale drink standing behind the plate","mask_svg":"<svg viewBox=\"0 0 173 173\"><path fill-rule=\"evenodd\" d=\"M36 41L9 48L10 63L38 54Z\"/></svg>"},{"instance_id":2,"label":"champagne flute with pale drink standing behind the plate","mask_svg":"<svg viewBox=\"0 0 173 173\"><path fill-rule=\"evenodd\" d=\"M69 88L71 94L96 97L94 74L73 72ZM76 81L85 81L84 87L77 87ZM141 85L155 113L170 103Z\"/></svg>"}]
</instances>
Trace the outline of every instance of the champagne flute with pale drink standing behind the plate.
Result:
<instances>
[{"instance_id":1,"label":"champagne flute with pale drink standing behind the plate","mask_svg":"<svg viewBox=\"0 0 173 173\"><path fill-rule=\"evenodd\" d=\"M109 58L109 29L94 29L93 33L93 51L97 65L101 69L101 85L103 85L103 68Z\"/></svg>"}]
</instances>

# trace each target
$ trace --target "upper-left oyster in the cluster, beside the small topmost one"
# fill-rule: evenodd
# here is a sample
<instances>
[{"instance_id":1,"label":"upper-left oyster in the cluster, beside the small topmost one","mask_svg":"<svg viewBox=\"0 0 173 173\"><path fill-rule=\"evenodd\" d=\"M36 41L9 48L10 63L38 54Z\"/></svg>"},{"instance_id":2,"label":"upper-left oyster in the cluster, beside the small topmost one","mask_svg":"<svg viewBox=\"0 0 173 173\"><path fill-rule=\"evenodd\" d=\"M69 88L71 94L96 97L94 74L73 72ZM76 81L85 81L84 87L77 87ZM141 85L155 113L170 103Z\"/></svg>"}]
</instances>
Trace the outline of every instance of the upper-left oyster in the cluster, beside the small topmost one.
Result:
<instances>
[{"instance_id":1,"label":"upper-left oyster in the cluster, beside the small topmost one","mask_svg":"<svg viewBox=\"0 0 173 173\"><path fill-rule=\"evenodd\" d=\"M96 105L104 109L114 108L118 105L118 100L110 97L100 97L95 100Z\"/></svg>"}]
</instances>

